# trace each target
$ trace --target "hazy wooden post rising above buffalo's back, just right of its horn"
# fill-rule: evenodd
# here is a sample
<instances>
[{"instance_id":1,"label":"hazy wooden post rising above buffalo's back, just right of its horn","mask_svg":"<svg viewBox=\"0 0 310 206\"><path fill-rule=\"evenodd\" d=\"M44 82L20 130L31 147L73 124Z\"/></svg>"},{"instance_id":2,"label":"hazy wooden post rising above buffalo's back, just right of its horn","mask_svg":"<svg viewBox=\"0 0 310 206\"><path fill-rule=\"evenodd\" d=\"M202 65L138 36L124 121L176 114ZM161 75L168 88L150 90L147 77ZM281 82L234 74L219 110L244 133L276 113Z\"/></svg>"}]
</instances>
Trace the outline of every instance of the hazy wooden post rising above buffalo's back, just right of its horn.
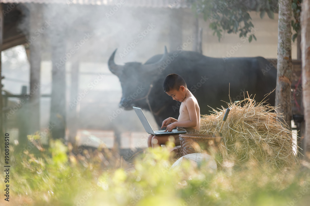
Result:
<instances>
[{"instance_id":1,"label":"hazy wooden post rising above buffalo's back, just right of its horn","mask_svg":"<svg viewBox=\"0 0 310 206\"><path fill-rule=\"evenodd\" d=\"M175 51L182 42L182 9L172 9L170 16L170 51ZM190 46L190 45L188 45ZM184 48L186 49L186 48Z\"/></svg>"}]
</instances>

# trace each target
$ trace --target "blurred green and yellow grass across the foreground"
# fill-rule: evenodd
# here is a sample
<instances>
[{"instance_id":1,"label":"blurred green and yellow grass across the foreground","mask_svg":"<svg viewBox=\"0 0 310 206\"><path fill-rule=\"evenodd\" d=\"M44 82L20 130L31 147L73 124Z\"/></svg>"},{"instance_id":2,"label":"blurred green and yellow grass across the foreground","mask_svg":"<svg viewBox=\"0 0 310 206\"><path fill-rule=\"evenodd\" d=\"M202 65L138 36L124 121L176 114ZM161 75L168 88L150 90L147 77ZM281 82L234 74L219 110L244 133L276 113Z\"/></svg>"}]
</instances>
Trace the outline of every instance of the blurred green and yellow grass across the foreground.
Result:
<instances>
[{"instance_id":1,"label":"blurred green and yellow grass across the foreground","mask_svg":"<svg viewBox=\"0 0 310 206\"><path fill-rule=\"evenodd\" d=\"M212 174L190 162L170 169L175 160L167 148L138 154L133 163L108 149L75 153L60 141L51 141L48 151L39 149L36 155L34 147L11 156L10 202L2 196L1 205L283 206L310 200L307 162L303 169L281 171L254 160L238 169L224 162Z\"/></svg>"}]
</instances>

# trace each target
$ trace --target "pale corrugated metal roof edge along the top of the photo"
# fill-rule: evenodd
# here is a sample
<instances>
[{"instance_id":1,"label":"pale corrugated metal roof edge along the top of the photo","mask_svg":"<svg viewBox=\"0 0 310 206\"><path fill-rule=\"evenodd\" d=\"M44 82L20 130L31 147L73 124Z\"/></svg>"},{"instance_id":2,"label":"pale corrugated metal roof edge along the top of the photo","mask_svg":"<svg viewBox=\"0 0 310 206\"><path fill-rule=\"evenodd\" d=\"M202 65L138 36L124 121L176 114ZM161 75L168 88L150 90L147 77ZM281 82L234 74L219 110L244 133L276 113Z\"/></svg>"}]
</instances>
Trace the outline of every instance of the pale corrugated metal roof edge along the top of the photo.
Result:
<instances>
[{"instance_id":1,"label":"pale corrugated metal roof edge along the top of the photo","mask_svg":"<svg viewBox=\"0 0 310 206\"><path fill-rule=\"evenodd\" d=\"M107 5L115 6L120 2L130 7L153 7L153 8L188 8L189 3L185 0L2 0L2 3L62 3L84 5Z\"/></svg>"}]
</instances>

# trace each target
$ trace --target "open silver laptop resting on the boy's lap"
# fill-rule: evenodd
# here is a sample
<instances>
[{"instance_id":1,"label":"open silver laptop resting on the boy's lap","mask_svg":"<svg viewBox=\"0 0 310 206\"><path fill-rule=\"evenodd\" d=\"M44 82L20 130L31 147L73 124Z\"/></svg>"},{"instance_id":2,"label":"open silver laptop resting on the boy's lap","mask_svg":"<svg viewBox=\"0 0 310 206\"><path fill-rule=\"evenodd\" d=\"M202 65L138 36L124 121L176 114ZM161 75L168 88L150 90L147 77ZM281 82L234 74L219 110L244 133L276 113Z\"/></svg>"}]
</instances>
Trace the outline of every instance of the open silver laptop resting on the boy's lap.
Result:
<instances>
[{"instance_id":1,"label":"open silver laptop resting on the boy's lap","mask_svg":"<svg viewBox=\"0 0 310 206\"><path fill-rule=\"evenodd\" d=\"M151 127L150 123L146 119L142 109L139 107L132 107L132 108L134 108L136 114L138 115L145 131L148 132L149 134L162 136L162 135L168 135L168 134L184 134L184 133L186 133L184 131L178 131L176 129L173 129L171 132L168 132L168 131L165 132L165 130L154 131L153 128Z\"/></svg>"}]
</instances>

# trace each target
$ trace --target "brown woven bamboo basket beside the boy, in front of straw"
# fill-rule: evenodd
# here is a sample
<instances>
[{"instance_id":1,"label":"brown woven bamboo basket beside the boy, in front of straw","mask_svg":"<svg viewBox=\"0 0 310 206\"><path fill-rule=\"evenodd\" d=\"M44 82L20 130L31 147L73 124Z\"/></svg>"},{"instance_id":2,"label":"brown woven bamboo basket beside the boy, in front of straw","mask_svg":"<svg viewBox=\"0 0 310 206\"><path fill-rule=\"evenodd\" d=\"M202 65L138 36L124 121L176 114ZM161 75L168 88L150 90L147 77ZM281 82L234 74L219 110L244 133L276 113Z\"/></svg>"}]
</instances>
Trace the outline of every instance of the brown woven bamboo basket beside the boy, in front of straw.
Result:
<instances>
[{"instance_id":1,"label":"brown woven bamboo basket beside the boy, in front of straw","mask_svg":"<svg viewBox=\"0 0 310 206\"><path fill-rule=\"evenodd\" d=\"M201 152L213 146L218 149L221 144L222 137L212 137L205 134L180 134L179 140L181 143L182 155Z\"/></svg>"}]
</instances>

